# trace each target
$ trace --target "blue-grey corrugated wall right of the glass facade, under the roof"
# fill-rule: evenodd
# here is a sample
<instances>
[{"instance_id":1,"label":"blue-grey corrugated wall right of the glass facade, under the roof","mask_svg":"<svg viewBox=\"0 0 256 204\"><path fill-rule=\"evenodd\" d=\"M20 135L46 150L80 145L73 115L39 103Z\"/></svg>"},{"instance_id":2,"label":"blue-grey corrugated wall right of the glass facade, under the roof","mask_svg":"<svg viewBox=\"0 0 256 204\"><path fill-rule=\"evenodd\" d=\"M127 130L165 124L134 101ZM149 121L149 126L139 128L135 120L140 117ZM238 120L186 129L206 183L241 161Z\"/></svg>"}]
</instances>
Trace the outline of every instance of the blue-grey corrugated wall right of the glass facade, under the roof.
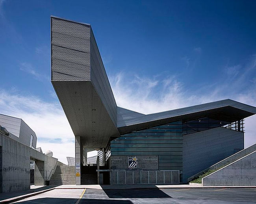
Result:
<instances>
[{"instance_id":1,"label":"blue-grey corrugated wall right of the glass facade, under the roof","mask_svg":"<svg viewBox=\"0 0 256 204\"><path fill-rule=\"evenodd\" d=\"M183 182L194 174L244 148L244 134L227 128L213 128L183 136Z\"/></svg>"}]
</instances>

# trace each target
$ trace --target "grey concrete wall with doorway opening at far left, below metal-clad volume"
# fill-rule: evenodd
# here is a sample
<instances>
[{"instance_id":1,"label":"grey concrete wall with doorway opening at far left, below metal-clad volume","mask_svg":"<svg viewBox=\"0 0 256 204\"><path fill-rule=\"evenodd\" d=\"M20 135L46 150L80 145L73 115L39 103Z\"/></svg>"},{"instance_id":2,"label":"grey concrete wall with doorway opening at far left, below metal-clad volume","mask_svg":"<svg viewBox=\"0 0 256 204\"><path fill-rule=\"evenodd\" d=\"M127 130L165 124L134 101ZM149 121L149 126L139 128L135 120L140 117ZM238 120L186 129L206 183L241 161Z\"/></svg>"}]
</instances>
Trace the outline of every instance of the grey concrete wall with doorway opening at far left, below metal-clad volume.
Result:
<instances>
[{"instance_id":1,"label":"grey concrete wall with doorway opening at far left, below metal-clad volume","mask_svg":"<svg viewBox=\"0 0 256 204\"><path fill-rule=\"evenodd\" d=\"M50 172L54 173L52 169L58 161L56 158L48 157L3 134L0 134L0 147L0 190L3 193L30 189L30 159L35 161L35 185L45 185L45 180L50 179Z\"/></svg>"}]
</instances>

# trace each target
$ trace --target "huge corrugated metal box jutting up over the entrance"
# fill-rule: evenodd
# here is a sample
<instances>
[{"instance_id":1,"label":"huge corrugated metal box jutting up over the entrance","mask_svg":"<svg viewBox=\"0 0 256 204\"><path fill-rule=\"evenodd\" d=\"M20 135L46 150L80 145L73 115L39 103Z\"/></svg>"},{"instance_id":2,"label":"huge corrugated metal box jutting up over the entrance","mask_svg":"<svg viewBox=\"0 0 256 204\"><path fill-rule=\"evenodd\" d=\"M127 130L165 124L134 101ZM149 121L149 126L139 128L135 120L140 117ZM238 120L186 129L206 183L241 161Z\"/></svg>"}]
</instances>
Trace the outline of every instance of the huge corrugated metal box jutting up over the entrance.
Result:
<instances>
[{"instance_id":1,"label":"huge corrugated metal box jutting up over the entrance","mask_svg":"<svg viewBox=\"0 0 256 204\"><path fill-rule=\"evenodd\" d=\"M51 17L52 85L83 146L106 147L117 130L117 105L90 24Z\"/></svg>"}]
</instances>

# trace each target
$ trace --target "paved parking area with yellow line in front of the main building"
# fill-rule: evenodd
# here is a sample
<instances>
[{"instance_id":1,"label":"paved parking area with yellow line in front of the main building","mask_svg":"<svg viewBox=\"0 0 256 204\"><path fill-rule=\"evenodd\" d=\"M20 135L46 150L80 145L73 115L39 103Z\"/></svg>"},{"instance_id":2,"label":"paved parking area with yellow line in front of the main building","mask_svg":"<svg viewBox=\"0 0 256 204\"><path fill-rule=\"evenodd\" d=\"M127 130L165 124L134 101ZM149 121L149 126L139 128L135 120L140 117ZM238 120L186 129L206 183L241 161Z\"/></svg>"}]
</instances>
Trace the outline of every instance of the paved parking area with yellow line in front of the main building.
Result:
<instances>
[{"instance_id":1,"label":"paved parking area with yellow line in front of the main building","mask_svg":"<svg viewBox=\"0 0 256 204\"><path fill-rule=\"evenodd\" d=\"M79 199L81 198L81 199ZM54 189L24 200L19 204L236 204L256 203L255 188L184 188L184 189Z\"/></svg>"}]
</instances>

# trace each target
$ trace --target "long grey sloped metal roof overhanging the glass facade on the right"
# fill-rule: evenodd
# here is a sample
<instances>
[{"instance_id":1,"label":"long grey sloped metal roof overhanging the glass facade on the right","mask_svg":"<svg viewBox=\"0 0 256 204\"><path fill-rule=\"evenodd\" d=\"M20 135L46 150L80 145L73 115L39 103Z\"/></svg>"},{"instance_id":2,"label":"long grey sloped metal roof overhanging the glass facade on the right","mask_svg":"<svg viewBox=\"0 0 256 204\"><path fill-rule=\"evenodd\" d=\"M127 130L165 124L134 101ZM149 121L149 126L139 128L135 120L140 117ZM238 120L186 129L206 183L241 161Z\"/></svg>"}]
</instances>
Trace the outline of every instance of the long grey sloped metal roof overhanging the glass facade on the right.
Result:
<instances>
[{"instance_id":1,"label":"long grey sloped metal roof overhanging the glass facade on the right","mask_svg":"<svg viewBox=\"0 0 256 204\"><path fill-rule=\"evenodd\" d=\"M202 117L212 113L226 113L234 117L243 119L256 114L256 107L243 104L234 100L225 99L186 108L179 108L160 113L152 113L148 115L137 115L138 117L125 118L117 122L120 134L132 132L142 128L157 126L171 121L180 119L189 119ZM121 117L119 117L121 118Z\"/></svg>"}]
</instances>

